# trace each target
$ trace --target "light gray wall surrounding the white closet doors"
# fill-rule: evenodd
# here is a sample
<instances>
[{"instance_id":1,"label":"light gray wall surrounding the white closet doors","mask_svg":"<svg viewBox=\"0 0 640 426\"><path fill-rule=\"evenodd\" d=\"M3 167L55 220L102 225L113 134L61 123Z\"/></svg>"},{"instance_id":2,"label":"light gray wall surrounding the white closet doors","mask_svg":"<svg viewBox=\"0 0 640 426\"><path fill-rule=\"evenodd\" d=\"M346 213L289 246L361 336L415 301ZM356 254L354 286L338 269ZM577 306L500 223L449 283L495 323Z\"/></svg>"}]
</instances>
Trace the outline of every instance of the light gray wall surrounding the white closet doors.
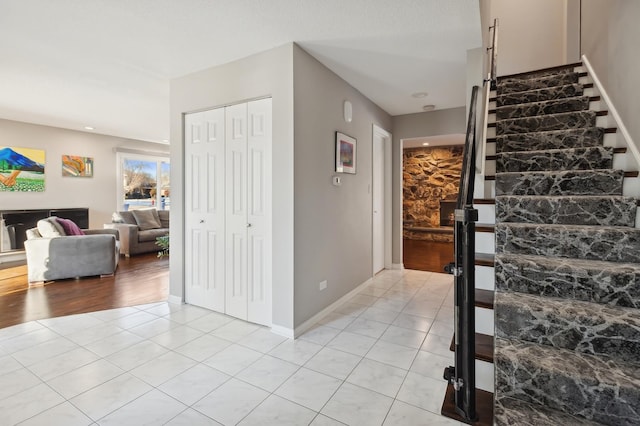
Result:
<instances>
[{"instance_id":1,"label":"light gray wall surrounding the white closet doors","mask_svg":"<svg viewBox=\"0 0 640 426\"><path fill-rule=\"evenodd\" d=\"M273 319L293 328L293 45L171 81L170 294L184 291L185 113L273 98Z\"/></svg>"}]
</instances>

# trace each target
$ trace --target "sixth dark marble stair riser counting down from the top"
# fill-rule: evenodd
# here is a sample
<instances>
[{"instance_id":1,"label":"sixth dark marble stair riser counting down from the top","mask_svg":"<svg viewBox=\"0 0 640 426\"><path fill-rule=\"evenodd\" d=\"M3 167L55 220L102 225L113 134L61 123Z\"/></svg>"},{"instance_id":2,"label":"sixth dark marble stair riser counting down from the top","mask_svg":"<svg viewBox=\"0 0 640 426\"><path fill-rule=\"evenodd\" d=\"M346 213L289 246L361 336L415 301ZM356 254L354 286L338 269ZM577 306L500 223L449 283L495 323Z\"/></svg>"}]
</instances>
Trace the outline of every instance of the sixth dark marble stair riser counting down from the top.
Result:
<instances>
[{"instance_id":1,"label":"sixth dark marble stair riser counting down from the top","mask_svg":"<svg viewBox=\"0 0 640 426\"><path fill-rule=\"evenodd\" d=\"M496 154L496 171L597 170L613 166L613 147L549 149Z\"/></svg>"}]
</instances>

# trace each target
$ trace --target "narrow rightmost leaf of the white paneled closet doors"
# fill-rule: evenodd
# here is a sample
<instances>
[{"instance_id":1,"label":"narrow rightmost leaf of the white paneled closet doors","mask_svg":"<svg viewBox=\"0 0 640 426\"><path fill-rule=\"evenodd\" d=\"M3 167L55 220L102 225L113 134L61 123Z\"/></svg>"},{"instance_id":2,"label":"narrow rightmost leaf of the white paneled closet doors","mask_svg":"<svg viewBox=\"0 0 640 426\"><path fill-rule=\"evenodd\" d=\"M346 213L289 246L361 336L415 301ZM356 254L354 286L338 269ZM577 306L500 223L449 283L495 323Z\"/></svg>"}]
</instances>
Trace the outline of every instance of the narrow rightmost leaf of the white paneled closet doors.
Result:
<instances>
[{"instance_id":1,"label":"narrow rightmost leaf of the white paneled closet doors","mask_svg":"<svg viewBox=\"0 0 640 426\"><path fill-rule=\"evenodd\" d=\"M248 320L271 325L271 99L248 104Z\"/></svg>"}]
</instances>

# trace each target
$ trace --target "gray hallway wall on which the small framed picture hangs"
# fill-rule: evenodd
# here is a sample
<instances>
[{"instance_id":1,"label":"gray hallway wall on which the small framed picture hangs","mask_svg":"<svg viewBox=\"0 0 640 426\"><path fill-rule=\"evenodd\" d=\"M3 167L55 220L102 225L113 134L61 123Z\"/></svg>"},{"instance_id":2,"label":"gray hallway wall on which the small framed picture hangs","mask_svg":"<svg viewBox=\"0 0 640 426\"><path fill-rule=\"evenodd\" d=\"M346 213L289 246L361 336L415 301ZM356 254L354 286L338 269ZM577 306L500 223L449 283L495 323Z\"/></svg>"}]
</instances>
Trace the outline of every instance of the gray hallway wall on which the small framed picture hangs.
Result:
<instances>
[{"instance_id":1,"label":"gray hallway wall on which the small framed picture hangs","mask_svg":"<svg viewBox=\"0 0 640 426\"><path fill-rule=\"evenodd\" d=\"M372 275L373 124L391 117L303 49L294 47L295 325ZM345 122L343 103L353 105ZM335 172L335 132L357 140L356 174ZM319 290L320 281L327 288Z\"/></svg>"}]
</instances>

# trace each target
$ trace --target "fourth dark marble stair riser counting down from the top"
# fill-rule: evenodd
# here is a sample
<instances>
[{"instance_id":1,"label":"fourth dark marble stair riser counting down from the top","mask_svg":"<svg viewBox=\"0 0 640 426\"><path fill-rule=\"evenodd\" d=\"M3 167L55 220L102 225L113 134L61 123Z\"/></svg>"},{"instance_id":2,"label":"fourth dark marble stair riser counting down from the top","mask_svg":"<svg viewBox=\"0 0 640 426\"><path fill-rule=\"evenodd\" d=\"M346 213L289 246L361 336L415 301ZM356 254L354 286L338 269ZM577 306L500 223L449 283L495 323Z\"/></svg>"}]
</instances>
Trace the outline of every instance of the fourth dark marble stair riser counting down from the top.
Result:
<instances>
[{"instance_id":1,"label":"fourth dark marble stair riser counting down from the top","mask_svg":"<svg viewBox=\"0 0 640 426\"><path fill-rule=\"evenodd\" d=\"M500 120L496 123L496 135L529 133L531 129L542 132L595 127L595 125L596 113L594 111L565 112L561 114Z\"/></svg>"}]
</instances>

